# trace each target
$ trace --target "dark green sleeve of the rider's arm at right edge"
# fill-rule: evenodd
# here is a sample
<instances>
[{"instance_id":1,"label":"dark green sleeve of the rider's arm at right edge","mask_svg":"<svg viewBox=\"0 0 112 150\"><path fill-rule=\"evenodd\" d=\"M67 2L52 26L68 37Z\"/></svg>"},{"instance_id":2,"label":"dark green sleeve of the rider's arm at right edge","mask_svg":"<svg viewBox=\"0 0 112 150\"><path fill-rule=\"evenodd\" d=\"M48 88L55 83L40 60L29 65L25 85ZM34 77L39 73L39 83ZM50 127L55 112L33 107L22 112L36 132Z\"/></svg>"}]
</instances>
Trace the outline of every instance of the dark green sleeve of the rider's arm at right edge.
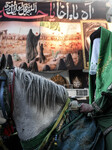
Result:
<instances>
[{"instance_id":1,"label":"dark green sleeve of the rider's arm at right edge","mask_svg":"<svg viewBox=\"0 0 112 150\"><path fill-rule=\"evenodd\" d=\"M96 99L95 103L102 112L95 109L94 117L101 130L105 131L112 126L112 89L104 92L99 99Z\"/></svg>"}]
</instances>

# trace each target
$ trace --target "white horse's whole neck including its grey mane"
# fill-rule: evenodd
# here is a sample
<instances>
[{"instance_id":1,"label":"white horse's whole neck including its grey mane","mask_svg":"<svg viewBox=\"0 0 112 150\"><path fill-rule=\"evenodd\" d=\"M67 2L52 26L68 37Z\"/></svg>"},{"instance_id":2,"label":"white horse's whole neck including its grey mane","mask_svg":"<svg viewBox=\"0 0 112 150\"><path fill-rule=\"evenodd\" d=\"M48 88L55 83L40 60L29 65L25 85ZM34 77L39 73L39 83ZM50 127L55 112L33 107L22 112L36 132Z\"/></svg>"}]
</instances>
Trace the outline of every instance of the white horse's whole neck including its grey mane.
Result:
<instances>
[{"instance_id":1,"label":"white horse's whole neck including its grey mane","mask_svg":"<svg viewBox=\"0 0 112 150\"><path fill-rule=\"evenodd\" d=\"M68 93L63 86L30 71L17 67L6 69L6 62L7 58L2 55L0 76L6 72L7 85L12 88L11 115L19 138L30 139L55 121Z\"/></svg>"}]
</instances>

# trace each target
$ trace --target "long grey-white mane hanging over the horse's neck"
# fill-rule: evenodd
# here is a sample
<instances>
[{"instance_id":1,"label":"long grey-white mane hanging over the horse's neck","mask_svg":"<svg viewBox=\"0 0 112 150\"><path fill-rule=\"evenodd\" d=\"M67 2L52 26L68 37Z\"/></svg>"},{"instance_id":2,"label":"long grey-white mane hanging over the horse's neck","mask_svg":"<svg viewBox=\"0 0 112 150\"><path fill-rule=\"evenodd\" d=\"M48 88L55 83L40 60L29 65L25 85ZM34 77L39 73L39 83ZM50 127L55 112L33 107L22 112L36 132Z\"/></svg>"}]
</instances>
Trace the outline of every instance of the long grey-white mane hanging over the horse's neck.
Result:
<instances>
[{"instance_id":1,"label":"long grey-white mane hanging over the horse's neck","mask_svg":"<svg viewBox=\"0 0 112 150\"><path fill-rule=\"evenodd\" d=\"M27 101L39 110L45 110L46 106L54 108L55 104L64 104L68 98L66 89L49 79L21 68L15 68L15 75L27 93Z\"/></svg>"}]
</instances>

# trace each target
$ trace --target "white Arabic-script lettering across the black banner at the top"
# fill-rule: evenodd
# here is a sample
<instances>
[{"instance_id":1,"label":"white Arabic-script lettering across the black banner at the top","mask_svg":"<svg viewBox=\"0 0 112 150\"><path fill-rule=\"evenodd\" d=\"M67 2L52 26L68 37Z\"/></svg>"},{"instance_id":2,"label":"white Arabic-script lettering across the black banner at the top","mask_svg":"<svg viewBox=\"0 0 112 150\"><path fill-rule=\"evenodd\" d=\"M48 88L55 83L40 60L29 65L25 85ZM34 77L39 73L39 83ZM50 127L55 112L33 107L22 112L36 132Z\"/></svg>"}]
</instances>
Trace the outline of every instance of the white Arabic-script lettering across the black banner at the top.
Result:
<instances>
[{"instance_id":1,"label":"white Arabic-script lettering across the black banner at the top","mask_svg":"<svg viewBox=\"0 0 112 150\"><path fill-rule=\"evenodd\" d=\"M5 14L12 15L12 16L38 16L41 14L40 17L50 16L50 18L57 17L58 19L69 19L69 20L87 20L93 17L95 13L95 9L92 6L93 2L85 2L85 3L63 3L63 2L50 2L46 3L47 13L43 12L42 10L38 10L37 2L17 2L17 1L10 1L6 2L4 6Z\"/></svg>"}]
</instances>

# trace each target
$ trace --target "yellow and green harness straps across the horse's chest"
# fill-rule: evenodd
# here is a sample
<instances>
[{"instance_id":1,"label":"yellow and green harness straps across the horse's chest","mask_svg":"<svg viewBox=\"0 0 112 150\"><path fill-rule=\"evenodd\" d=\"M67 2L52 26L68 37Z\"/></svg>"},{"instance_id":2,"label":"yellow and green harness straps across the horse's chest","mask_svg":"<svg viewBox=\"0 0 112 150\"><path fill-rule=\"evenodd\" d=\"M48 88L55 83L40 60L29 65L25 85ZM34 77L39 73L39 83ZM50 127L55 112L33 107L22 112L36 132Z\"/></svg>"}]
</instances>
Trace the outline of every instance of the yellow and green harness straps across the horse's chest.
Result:
<instances>
[{"instance_id":1,"label":"yellow and green harness straps across the horse's chest","mask_svg":"<svg viewBox=\"0 0 112 150\"><path fill-rule=\"evenodd\" d=\"M58 141L62 136L62 133L83 116L83 114L80 114L77 118L74 117L71 121L69 120L69 115L72 111L69 107L70 101L71 99L68 98L58 119L53 124L43 130L36 137L26 141L21 141L24 150L55 150L59 148Z\"/></svg>"}]
</instances>

